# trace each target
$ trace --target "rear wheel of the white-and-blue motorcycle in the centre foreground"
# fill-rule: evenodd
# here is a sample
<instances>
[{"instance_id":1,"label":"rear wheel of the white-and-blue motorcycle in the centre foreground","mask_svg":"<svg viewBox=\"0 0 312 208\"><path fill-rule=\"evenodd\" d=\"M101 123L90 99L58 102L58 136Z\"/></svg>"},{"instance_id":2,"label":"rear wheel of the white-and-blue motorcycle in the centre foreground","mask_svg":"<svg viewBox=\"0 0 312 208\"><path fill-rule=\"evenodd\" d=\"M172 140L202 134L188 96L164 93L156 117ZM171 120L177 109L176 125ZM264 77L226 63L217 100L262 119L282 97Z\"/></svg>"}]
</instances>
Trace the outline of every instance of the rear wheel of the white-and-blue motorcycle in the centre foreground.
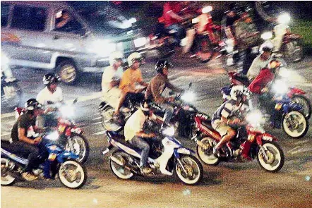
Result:
<instances>
[{"instance_id":1,"label":"rear wheel of the white-and-blue motorcycle in the centre foreground","mask_svg":"<svg viewBox=\"0 0 312 208\"><path fill-rule=\"evenodd\" d=\"M116 157L116 159L119 159L124 165L126 165L131 159L128 154L119 150L113 152L112 156ZM116 164L116 162L112 161L112 159L109 159L109 166L117 178L128 180L133 177L133 173L131 173L131 171L126 169L124 166Z\"/></svg>"}]
</instances>

